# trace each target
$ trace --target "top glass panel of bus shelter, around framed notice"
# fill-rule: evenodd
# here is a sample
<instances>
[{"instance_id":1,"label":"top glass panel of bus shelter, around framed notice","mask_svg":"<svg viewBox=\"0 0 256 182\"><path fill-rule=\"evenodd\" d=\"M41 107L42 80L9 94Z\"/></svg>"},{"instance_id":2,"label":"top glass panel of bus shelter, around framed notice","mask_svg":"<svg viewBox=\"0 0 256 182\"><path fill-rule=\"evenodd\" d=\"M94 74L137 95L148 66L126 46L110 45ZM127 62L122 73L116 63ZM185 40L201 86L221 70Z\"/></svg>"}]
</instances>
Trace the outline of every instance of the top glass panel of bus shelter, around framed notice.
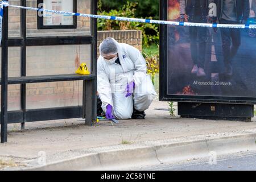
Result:
<instances>
[{"instance_id":1,"label":"top glass panel of bus shelter, around framed notice","mask_svg":"<svg viewBox=\"0 0 256 182\"><path fill-rule=\"evenodd\" d=\"M68 0L71 1L71 0ZM73 1L73 0L72 0ZM41 1L40 1L41 2ZM56 2L59 2L56 4ZM56 4L55 6L52 3ZM61 11L71 11L71 7L65 6L66 1L46 1L44 7L49 9L56 9ZM42 4L38 0L27 1L27 6L41 8ZM76 0L76 11L75 13L86 13L90 14L90 0ZM73 12L73 11L71 11ZM43 16L42 24L38 21L38 16ZM65 26L72 25L73 18L71 16L57 15L57 14L44 14L43 12L37 12L27 10L27 36L38 37L38 36L85 36L91 35L90 32L90 18L77 16L76 27L65 28ZM59 26L57 24L60 24ZM44 26L53 26L50 28L44 28ZM63 27L61 27L63 26ZM38 28L39 27L39 28ZM40 28L41 27L41 28Z\"/></svg>"}]
</instances>

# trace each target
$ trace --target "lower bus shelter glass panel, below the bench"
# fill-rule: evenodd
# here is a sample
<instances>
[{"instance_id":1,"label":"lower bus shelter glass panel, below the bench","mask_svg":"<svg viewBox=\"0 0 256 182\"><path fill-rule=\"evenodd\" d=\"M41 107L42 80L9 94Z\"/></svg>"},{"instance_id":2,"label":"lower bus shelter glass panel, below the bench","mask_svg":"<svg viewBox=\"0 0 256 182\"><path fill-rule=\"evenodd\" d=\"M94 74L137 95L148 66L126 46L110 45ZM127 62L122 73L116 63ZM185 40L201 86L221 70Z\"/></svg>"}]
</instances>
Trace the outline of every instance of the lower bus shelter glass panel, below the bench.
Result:
<instances>
[{"instance_id":1,"label":"lower bus shelter glass panel, below the bench","mask_svg":"<svg viewBox=\"0 0 256 182\"><path fill-rule=\"evenodd\" d=\"M81 105L82 81L26 84L27 109Z\"/></svg>"}]
</instances>

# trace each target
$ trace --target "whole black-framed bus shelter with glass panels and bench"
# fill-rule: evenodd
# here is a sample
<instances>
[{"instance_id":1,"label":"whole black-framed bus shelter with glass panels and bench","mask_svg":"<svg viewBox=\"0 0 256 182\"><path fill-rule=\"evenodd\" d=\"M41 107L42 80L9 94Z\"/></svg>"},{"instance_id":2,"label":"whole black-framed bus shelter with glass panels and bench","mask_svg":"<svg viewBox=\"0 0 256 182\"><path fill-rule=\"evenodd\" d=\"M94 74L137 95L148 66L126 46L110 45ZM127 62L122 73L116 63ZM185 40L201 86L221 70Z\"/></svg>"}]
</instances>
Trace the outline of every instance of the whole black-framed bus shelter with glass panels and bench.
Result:
<instances>
[{"instance_id":1,"label":"whole black-framed bus shelter with glass panels and bench","mask_svg":"<svg viewBox=\"0 0 256 182\"><path fill-rule=\"evenodd\" d=\"M95 0L10 0L11 5L97 14ZM3 7L1 142L10 123L96 120L97 19ZM75 74L86 63L90 75Z\"/></svg>"}]
</instances>

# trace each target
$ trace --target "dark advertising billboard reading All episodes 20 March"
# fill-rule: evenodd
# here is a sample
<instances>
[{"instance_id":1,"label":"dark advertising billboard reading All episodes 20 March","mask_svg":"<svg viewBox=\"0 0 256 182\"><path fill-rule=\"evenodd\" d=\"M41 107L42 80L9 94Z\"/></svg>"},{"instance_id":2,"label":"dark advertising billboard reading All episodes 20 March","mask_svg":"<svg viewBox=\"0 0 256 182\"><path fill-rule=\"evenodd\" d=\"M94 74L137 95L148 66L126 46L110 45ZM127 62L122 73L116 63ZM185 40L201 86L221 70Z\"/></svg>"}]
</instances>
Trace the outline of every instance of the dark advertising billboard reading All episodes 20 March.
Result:
<instances>
[{"instance_id":1,"label":"dark advertising billboard reading All episodes 20 March","mask_svg":"<svg viewBox=\"0 0 256 182\"><path fill-rule=\"evenodd\" d=\"M176 22L256 24L256 0L162 6L162 19ZM162 26L161 34L161 100L256 103L255 29Z\"/></svg>"}]
</instances>

